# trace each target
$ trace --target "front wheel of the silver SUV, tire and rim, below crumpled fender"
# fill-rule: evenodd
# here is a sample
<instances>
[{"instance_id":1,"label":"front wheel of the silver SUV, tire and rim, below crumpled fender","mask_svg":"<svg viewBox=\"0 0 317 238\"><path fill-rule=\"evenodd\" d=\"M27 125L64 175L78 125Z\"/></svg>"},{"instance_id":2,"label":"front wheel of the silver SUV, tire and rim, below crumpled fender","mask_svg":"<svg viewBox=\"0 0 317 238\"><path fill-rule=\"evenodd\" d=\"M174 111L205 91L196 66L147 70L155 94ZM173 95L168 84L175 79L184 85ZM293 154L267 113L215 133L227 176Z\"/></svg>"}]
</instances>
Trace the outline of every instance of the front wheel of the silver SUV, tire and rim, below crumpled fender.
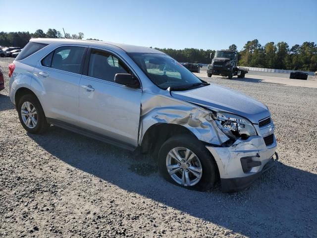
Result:
<instances>
[{"instance_id":1,"label":"front wheel of the silver SUV, tire and rim, below crumpled fender","mask_svg":"<svg viewBox=\"0 0 317 238\"><path fill-rule=\"evenodd\" d=\"M185 161L186 150L190 150L187 158L191 158L193 155L189 163ZM175 155L174 152L179 153L178 156L184 159L183 162L179 163L175 159L177 156L171 156ZM191 135L176 135L165 141L159 150L158 163L159 172L164 179L188 189L209 190L217 179L217 167L214 159L203 143ZM170 168L174 167L170 169L170 172L167 170L168 165ZM200 169L201 171L199 171ZM175 171L177 172L175 173ZM195 176L192 171L199 177ZM185 174L187 174L188 180L182 179Z\"/></svg>"}]
</instances>

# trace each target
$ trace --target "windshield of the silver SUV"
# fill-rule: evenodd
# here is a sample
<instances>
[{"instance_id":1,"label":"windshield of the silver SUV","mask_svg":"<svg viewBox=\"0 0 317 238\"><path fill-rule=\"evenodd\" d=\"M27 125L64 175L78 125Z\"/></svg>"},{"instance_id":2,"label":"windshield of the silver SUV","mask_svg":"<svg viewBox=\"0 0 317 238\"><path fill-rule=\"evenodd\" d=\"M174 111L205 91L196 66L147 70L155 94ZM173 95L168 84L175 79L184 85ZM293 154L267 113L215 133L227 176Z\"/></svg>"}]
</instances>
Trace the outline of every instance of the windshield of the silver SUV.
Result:
<instances>
[{"instance_id":1,"label":"windshield of the silver SUV","mask_svg":"<svg viewBox=\"0 0 317 238\"><path fill-rule=\"evenodd\" d=\"M205 85L187 68L164 54L130 53L129 56L162 89L186 90Z\"/></svg>"}]
</instances>

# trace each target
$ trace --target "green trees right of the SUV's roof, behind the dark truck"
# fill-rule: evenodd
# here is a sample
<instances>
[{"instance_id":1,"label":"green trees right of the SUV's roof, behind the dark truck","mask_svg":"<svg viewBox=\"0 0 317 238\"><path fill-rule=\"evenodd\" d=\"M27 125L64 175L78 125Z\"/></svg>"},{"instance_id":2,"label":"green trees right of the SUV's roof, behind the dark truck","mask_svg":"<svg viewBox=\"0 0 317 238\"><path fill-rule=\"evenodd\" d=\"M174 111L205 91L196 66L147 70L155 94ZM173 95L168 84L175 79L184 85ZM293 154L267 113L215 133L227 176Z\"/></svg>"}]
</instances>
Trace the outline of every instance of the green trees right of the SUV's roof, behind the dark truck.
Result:
<instances>
[{"instance_id":1,"label":"green trees right of the SUV's roof, behind the dark truck","mask_svg":"<svg viewBox=\"0 0 317 238\"><path fill-rule=\"evenodd\" d=\"M185 48L184 50L159 49L180 62L210 63L215 51ZM237 46L231 45L228 50L236 51ZM261 46L259 41L248 41L239 52L238 65L260 68L291 69L302 71L317 70L317 46L314 42L289 47L286 42L269 42Z\"/></svg>"}]
</instances>

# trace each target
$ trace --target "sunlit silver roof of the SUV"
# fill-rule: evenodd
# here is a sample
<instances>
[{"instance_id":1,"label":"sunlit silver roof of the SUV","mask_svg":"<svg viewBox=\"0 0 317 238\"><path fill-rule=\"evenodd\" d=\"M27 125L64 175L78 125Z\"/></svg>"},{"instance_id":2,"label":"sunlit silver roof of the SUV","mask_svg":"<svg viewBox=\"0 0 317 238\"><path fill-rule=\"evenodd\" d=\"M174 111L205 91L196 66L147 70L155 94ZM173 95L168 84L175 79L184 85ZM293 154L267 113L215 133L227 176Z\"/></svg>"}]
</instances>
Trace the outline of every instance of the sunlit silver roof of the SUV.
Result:
<instances>
[{"instance_id":1,"label":"sunlit silver roof of the SUV","mask_svg":"<svg viewBox=\"0 0 317 238\"><path fill-rule=\"evenodd\" d=\"M105 47L112 46L120 48L121 50L127 53L157 53L157 54L164 54L158 50L144 47L144 46L133 46L133 45L126 45L126 44L118 44L113 42L104 42L104 41L94 41L94 40L75 40L75 39L54 39L54 38L32 38L30 42L36 43L44 43L44 44L52 44L52 43L60 43L60 44L74 44L74 45L88 45L92 47Z\"/></svg>"}]
</instances>

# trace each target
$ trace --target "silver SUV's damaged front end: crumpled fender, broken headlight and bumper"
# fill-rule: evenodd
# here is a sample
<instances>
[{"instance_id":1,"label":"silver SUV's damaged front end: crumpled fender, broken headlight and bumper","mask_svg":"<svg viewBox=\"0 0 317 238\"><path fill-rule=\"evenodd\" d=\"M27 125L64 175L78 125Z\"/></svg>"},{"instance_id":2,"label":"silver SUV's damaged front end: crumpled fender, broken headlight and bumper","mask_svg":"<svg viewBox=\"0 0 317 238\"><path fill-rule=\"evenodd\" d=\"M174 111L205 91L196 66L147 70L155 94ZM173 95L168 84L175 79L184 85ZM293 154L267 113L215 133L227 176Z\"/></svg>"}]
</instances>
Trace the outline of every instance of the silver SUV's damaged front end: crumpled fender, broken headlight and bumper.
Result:
<instances>
[{"instance_id":1,"label":"silver SUV's damaged front end: crumpled fender, broken headlight and bumper","mask_svg":"<svg viewBox=\"0 0 317 238\"><path fill-rule=\"evenodd\" d=\"M224 192L249 186L274 162L276 139L272 122L262 131L250 120L235 114L168 96L144 94L140 146L149 128L158 124L181 125L205 143L217 164ZM268 132L273 142L267 146L264 136Z\"/></svg>"}]
</instances>

